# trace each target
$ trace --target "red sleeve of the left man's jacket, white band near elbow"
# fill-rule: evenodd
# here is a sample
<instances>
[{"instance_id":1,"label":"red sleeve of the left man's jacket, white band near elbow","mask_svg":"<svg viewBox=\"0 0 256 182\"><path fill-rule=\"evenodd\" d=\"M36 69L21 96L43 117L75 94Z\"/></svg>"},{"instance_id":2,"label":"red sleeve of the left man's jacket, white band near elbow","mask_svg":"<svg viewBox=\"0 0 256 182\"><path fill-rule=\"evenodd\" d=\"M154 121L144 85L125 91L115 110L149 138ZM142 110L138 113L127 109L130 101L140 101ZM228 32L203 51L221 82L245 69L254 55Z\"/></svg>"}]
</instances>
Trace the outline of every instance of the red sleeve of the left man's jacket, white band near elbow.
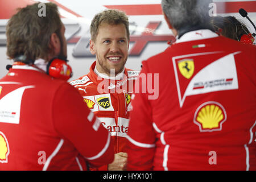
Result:
<instances>
[{"instance_id":1,"label":"red sleeve of the left man's jacket, white band near elbow","mask_svg":"<svg viewBox=\"0 0 256 182\"><path fill-rule=\"evenodd\" d=\"M73 143L90 166L99 167L113 162L114 147L110 133L90 112L73 86L68 83L61 85L52 107L57 133Z\"/></svg>"}]
</instances>

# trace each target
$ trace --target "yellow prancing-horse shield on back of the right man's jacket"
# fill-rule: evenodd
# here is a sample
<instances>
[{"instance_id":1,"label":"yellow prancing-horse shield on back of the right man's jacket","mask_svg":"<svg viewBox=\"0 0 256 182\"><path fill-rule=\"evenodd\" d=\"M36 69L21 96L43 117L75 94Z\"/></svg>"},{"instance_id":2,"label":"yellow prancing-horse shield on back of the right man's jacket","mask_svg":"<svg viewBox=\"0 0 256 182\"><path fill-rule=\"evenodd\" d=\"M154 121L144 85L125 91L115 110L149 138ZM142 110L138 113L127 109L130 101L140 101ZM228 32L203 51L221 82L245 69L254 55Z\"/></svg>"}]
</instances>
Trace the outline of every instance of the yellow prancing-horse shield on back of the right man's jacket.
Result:
<instances>
[{"instance_id":1,"label":"yellow prancing-horse shield on back of the right man's jacket","mask_svg":"<svg viewBox=\"0 0 256 182\"><path fill-rule=\"evenodd\" d=\"M193 59L183 59L178 61L178 67L181 75L189 79L195 71L195 64Z\"/></svg>"}]
</instances>

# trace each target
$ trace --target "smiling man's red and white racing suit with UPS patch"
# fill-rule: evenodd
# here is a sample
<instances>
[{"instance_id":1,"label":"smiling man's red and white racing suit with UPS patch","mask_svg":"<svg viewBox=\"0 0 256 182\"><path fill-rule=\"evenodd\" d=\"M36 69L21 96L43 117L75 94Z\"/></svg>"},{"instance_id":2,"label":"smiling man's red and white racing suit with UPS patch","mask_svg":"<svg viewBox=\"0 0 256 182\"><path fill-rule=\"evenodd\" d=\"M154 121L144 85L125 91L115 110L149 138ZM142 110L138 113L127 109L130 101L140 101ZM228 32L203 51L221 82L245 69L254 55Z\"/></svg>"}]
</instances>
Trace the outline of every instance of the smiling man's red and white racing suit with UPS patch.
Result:
<instances>
[{"instance_id":1,"label":"smiling man's red and white racing suit with UPS patch","mask_svg":"<svg viewBox=\"0 0 256 182\"><path fill-rule=\"evenodd\" d=\"M95 67L96 61L90 67L88 75L70 84L79 90L87 106L109 130L114 141L114 152L126 152L131 93L139 72L125 68L123 74L110 78L96 73ZM101 93L104 88L104 93ZM107 166L100 168L107 169Z\"/></svg>"}]
</instances>

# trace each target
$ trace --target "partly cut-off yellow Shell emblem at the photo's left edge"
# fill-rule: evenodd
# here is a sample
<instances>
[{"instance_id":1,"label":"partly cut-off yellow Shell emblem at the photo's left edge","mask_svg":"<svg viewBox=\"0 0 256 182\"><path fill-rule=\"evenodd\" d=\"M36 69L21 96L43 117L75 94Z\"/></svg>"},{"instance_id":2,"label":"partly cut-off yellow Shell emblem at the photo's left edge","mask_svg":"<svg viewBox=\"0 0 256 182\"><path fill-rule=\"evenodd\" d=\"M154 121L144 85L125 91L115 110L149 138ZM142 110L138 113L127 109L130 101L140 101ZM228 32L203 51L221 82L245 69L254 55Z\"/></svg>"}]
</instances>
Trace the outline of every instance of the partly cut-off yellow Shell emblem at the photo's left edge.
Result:
<instances>
[{"instance_id":1,"label":"partly cut-off yellow Shell emblem at the photo's left edge","mask_svg":"<svg viewBox=\"0 0 256 182\"><path fill-rule=\"evenodd\" d=\"M5 134L3 134L0 131L0 163L7 163L8 155L10 154L9 150L9 143L5 137Z\"/></svg>"}]
</instances>

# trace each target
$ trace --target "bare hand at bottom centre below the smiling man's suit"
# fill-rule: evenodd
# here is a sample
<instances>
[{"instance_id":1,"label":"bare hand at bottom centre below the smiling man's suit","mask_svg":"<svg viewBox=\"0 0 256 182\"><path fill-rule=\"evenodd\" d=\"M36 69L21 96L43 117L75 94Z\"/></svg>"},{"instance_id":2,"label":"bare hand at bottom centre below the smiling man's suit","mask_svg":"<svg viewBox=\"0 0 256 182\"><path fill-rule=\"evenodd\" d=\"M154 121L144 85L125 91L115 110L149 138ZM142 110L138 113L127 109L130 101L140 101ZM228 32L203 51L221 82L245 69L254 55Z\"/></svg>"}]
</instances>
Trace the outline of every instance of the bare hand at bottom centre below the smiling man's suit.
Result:
<instances>
[{"instance_id":1,"label":"bare hand at bottom centre below the smiling man's suit","mask_svg":"<svg viewBox=\"0 0 256 182\"><path fill-rule=\"evenodd\" d=\"M126 171L127 170L127 153L119 152L114 155L113 163L108 165L109 171Z\"/></svg>"}]
</instances>

